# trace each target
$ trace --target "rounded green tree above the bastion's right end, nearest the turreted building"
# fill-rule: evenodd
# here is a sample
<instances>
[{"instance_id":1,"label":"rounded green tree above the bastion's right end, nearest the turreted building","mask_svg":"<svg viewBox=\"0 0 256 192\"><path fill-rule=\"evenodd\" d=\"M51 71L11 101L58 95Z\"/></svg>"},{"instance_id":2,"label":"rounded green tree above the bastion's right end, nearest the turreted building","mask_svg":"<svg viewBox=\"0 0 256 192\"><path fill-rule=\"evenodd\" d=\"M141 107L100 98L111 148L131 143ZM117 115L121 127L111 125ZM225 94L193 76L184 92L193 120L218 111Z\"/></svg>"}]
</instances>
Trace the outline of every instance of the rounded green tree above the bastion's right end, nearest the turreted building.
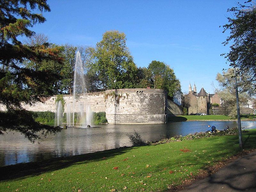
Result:
<instances>
[{"instance_id":1,"label":"rounded green tree above the bastion's right end, nearest the turreted building","mask_svg":"<svg viewBox=\"0 0 256 192\"><path fill-rule=\"evenodd\" d=\"M168 95L173 97L177 92L181 92L180 81L175 76L172 68L161 61L152 61L148 65L154 89L165 89Z\"/></svg>"}]
</instances>

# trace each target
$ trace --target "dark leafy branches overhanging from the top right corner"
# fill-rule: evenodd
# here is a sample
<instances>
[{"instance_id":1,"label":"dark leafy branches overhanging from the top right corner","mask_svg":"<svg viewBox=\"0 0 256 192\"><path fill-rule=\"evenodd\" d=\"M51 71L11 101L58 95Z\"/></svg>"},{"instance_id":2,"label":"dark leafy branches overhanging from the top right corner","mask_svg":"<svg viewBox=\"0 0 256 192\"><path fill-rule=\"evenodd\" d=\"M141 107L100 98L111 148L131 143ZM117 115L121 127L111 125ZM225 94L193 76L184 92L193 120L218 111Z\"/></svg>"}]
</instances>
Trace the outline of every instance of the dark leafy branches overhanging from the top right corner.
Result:
<instances>
[{"instance_id":1,"label":"dark leafy branches overhanging from the top right corner","mask_svg":"<svg viewBox=\"0 0 256 192\"><path fill-rule=\"evenodd\" d=\"M222 44L230 45L230 50L239 55L238 60L230 66L238 67L240 76L250 75L244 84L251 84L250 95L256 94L256 6L251 0L245 4L237 3L237 7L228 9L231 16L228 24L224 25L223 33L230 31L230 35ZM222 54L228 57L228 54Z\"/></svg>"}]
</instances>

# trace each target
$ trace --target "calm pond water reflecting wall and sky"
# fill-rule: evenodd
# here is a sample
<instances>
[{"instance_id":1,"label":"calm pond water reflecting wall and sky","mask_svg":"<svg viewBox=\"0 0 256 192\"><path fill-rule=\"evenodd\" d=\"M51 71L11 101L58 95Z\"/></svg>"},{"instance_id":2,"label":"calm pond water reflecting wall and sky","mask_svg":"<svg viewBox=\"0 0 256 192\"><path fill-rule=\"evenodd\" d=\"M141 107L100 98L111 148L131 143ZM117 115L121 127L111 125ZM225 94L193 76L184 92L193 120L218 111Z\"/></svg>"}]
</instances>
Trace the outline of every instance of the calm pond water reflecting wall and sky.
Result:
<instances>
[{"instance_id":1,"label":"calm pond water reflecting wall and sky","mask_svg":"<svg viewBox=\"0 0 256 192\"><path fill-rule=\"evenodd\" d=\"M23 135L9 132L0 136L0 166L38 161L51 157L73 156L123 146L131 146L127 133L140 132L146 141L163 137L205 132L208 124L222 130L227 125L237 127L234 121L187 121L150 125L101 125L101 128L68 128L56 135L48 135L32 144ZM245 129L256 128L256 121L242 121Z\"/></svg>"}]
</instances>

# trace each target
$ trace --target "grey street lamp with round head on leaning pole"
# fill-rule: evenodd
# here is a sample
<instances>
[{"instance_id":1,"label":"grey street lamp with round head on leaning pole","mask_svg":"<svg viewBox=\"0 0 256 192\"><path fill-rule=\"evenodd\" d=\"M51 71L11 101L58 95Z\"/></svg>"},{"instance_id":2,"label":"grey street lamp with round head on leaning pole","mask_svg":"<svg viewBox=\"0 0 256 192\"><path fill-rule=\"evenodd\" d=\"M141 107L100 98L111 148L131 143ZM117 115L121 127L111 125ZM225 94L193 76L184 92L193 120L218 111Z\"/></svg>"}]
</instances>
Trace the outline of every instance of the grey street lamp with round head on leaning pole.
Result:
<instances>
[{"instance_id":1,"label":"grey street lamp with round head on leaning pole","mask_svg":"<svg viewBox=\"0 0 256 192\"><path fill-rule=\"evenodd\" d=\"M239 147L243 148L242 142L242 129L241 129L241 118L240 118L240 108L239 108L239 99L238 99L238 89L237 89L237 78L236 78L236 65L235 61L238 59L238 54L230 52L228 59L234 63L234 73L235 73L235 87L236 87L236 110L237 110L237 124L238 124L238 137L239 137Z\"/></svg>"}]
</instances>

